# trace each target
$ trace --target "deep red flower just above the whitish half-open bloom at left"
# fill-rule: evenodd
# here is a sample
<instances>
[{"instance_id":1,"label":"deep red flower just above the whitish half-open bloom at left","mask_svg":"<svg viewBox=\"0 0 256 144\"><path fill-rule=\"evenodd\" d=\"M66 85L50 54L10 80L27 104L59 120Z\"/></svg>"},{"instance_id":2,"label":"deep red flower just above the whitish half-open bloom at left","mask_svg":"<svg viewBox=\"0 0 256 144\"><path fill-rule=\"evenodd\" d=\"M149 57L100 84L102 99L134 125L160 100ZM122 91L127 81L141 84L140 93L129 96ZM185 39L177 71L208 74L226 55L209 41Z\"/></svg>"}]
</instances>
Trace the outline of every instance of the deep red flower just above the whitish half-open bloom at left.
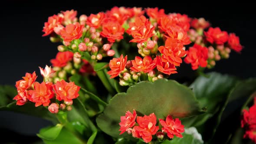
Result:
<instances>
[{"instance_id":1,"label":"deep red flower just above the whitish half-open bloom at left","mask_svg":"<svg viewBox=\"0 0 256 144\"><path fill-rule=\"evenodd\" d=\"M73 59L73 52L58 52L55 59L51 59L50 62L53 66L64 67L69 61Z\"/></svg>"}]
</instances>

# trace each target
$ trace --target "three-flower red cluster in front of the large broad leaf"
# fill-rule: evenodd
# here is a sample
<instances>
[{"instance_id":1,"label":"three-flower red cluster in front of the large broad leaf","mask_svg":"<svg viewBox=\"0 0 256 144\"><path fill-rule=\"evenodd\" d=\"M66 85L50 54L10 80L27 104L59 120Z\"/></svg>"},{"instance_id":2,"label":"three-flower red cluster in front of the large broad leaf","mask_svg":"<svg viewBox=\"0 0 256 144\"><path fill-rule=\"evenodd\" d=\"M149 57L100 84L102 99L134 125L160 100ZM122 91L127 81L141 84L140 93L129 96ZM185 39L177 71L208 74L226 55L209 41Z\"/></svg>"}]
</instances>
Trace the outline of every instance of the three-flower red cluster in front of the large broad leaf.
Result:
<instances>
[{"instance_id":1,"label":"three-flower red cluster in front of the large broad leaf","mask_svg":"<svg viewBox=\"0 0 256 144\"><path fill-rule=\"evenodd\" d=\"M146 143L152 140L152 135L156 135L157 138L162 141L164 140L165 133L167 137L174 138L174 135L182 137L181 133L184 132L184 125L181 124L181 121L178 118L173 119L171 115L168 115L165 121L159 119L161 131L159 131L160 125L156 126L157 118L154 113L141 117L137 116L135 110L133 110L133 113L127 111L125 116L121 116L120 119L120 134L127 131L127 133L132 134L133 137L142 138Z\"/></svg>"}]
</instances>

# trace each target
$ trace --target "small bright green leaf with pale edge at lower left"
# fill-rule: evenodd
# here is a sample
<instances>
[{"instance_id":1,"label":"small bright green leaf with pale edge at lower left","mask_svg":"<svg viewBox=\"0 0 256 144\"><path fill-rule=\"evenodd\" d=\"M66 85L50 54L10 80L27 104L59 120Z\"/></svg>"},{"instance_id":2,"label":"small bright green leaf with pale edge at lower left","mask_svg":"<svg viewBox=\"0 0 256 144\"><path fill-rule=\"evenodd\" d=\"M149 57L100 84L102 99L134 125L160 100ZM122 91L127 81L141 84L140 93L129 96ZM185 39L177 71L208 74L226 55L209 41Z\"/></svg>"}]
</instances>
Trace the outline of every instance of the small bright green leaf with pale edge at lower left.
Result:
<instances>
[{"instance_id":1,"label":"small bright green leaf with pale edge at lower left","mask_svg":"<svg viewBox=\"0 0 256 144\"><path fill-rule=\"evenodd\" d=\"M57 124L54 127L42 128L39 134L36 135L44 140L53 141L59 136L59 133L62 130L62 128L62 124Z\"/></svg>"}]
</instances>

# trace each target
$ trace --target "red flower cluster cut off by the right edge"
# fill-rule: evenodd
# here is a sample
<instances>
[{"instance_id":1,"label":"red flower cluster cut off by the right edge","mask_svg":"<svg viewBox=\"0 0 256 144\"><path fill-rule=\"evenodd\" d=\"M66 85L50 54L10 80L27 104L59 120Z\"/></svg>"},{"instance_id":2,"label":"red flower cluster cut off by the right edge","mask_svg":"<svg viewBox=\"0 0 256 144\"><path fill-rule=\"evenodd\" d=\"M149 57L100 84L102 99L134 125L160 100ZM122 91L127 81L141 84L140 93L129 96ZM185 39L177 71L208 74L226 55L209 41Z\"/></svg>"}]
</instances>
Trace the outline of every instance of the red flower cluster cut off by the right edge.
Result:
<instances>
[{"instance_id":1,"label":"red flower cluster cut off by the right edge","mask_svg":"<svg viewBox=\"0 0 256 144\"><path fill-rule=\"evenodd\" d=\"M256 143L256 98L254 98L254 105L249 108L249 111L243 110L241 127L246 129L243 138L250 138Z\"/></svg>"}]
</instances>

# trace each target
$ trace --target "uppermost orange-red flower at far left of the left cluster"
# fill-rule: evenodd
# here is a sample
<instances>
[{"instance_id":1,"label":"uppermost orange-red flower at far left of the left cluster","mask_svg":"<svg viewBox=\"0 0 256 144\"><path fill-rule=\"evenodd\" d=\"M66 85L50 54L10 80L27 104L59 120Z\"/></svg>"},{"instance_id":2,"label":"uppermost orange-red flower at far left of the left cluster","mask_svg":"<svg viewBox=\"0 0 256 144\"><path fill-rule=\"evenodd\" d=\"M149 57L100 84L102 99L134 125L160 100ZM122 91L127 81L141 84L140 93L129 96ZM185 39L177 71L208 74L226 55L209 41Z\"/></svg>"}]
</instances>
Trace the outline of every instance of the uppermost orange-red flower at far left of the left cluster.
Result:
<instances>
[{"instance_id":1,"label":"uppermost orange-red flower at far left of the left cluster","mask_svg":"<svg viewBox=\"0 0 256 144\"><path fill-rule=\"evenodd\" d=\"M36 72L33 72L32 74L26 73L24 77L22 77L23 80L19 80L16 82L16 88L21 88L23 90L26 90L32 86L32 84L36 81Z\"/></svg>"}]
</instances>

